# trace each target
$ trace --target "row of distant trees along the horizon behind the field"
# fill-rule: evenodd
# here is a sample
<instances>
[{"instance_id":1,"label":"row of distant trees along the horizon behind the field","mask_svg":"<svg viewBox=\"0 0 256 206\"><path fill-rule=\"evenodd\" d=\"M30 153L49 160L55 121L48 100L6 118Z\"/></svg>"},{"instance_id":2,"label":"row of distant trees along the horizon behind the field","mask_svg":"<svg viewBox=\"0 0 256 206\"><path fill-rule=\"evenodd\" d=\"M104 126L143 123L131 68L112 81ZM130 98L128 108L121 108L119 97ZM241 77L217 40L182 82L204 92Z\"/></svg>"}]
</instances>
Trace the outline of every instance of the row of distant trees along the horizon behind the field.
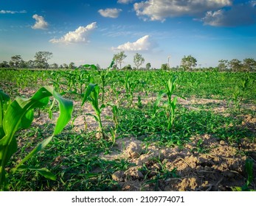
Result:
<instances>
[{"instance_id":1,"label":"row of distant trees along the horizon behind the field","mask_svg":"<svg viewBox=\"0 0 256 206\"><path fill-rule=\"evenodd\" d=\"M141 67L145 63L145 58L142 57L142 54L136 53L134 55L134 65L135 67L132 68L130 64L125 65L122 67L123 60L127 55L125 51L120 51L117 54L114 54L113 60L115 62L113 68L114 69L125 69L125 70L132 70L132 69L153 69L151 68L151 63L147 63L145 67ZM52 52L49 51L38 51L35 53L34 60L24 61L21 58L21 55L15 55L10 58L10 61L3 61L0 63L0 68L77 68L75 63L63 63L58 65L57 63L52 63L49 65L48 61L52 58ZM202 69L209 69L209 68L196 68L197 60L192 55L184 56L181 59L181 63L176 68L170 68L169 65L169 57L168 63L163 63L161 65L161 69L163 70L182 70L182 71L198 71ZM80 65L79 67L83 67ZM98 65L100 68L100 65ZM213 68L217 71L256 71L256 60L253 58L245 58L243 61L238 59L233 60L219 60L218 66Z\"/></svg>"}]
</instances>

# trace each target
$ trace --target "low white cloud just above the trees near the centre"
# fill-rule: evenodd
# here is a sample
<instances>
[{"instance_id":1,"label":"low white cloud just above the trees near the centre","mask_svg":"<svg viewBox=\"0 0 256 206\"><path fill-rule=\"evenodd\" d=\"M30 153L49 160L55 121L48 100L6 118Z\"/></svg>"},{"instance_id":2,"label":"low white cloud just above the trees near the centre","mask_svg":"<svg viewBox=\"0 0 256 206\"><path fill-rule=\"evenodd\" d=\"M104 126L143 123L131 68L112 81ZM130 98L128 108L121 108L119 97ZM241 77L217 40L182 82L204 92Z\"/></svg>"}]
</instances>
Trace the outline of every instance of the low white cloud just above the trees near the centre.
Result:
<instances>
[{"instance_id":1,"label":"low white cloud just above the trees near the centre","mask_svg":"<svg viewBox=\"0 0 256 206\"><path fill-rule=\"evenodd\" d=\"M112 47L112 50L121 50L121 51L148 51L153 46L150 36L145 35L142 38L139 38L135 42L127 42L116 48Z\"/></svg>"}]
</instances>

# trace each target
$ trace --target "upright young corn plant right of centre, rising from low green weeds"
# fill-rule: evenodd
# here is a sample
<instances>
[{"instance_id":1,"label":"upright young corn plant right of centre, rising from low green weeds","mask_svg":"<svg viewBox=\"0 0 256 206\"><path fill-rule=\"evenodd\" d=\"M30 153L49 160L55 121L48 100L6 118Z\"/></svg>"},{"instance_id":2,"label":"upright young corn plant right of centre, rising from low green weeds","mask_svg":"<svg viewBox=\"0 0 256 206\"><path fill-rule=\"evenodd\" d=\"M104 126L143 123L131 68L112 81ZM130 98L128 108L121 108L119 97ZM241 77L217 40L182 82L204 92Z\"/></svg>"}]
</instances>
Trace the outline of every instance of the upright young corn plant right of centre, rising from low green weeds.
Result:
<instances>
[{"instance_id":1,"label":"upright young corn plant right of centre, rising from low green weeds","mask_svg":"<svg viewBox=\"0 0 256 206\"><path fill-rule=\"evenodd\" d=\"M153 105L153 116L156 115L157 110L159 110L159 104L163 96L167 96L167 104L164 105L165 114L167 117L167 130L170 131L173 127L173 121L175 118L175 109L177 97L173 98L173 90L176 88L176 76L168 79L167 84L165 85L165 90L159 92L156 102Z\"/></svg>"}]
</instances>

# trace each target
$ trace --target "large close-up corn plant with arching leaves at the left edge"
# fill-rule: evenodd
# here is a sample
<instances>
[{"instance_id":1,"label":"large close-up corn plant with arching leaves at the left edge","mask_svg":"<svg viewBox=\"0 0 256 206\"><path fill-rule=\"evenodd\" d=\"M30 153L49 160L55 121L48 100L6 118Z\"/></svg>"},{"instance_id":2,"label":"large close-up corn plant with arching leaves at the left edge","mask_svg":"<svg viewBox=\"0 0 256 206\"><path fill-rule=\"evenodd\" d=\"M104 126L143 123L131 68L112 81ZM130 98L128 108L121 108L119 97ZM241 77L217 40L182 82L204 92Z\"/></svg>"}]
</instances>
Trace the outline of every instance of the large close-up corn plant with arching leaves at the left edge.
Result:
<instances>
[{"instance_id":1,"label":"large close-up corn plant with arching leaves at the left edge","mask_svg":"<svg viewBox=\"0 0 256 206\"><path fill-rule=\"evenodd\" d=\"M63 130L72 116L72 102L63 99L51 87L40 88L30 99L18 97L13 102L10 101L10 96L4 93L3 90L0 90L0 191L7 190L7 174L5 168L10 158L18 149L15 133L20 129L30 127L33 120L33 109L45 107L49 102L50 96L53 96L58 101L60 108L60 115L55 124L53 134L44 139L44 141L41 141L41 143L38 143L38 146L35 146L23 160L17 161L10 172L32 170L50 180L55 180L55 175L48 169L25 166L24 163L44 149L52 138Z\"/></svg>"}]
</instances>

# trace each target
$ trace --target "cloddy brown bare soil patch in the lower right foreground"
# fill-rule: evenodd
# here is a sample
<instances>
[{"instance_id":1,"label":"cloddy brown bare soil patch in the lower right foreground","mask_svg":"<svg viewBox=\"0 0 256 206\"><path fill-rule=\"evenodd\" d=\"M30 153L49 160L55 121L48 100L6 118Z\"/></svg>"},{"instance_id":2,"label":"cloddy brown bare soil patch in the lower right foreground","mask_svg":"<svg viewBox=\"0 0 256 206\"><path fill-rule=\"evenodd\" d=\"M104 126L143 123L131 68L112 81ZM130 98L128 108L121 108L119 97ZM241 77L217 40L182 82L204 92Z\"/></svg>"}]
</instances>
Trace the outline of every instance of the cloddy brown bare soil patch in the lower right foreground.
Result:
<instances>
[{"instance_id":1,"label":"cloddy brown bare soil patch in the lower right foreground","mask_svg":"<svg viewBox=\"0 0 256 206\"><path fill-rule=\"evenodd\" d=\"M205 154L196 152L201 140L208 148ZM255 159L255 143L242 142L242 147ZM146 147L134 138L118 139L115 152L101 155L107 160L128 160L134 166L112 174L122 191L230 191L246 182L246 155L236 146L201 135L184 148ZM169 174L169 175L167 175ZM256 166L254 166L256 177ZM252 183L256 187L256 179Z\"/></svg>"}]
</instances>

